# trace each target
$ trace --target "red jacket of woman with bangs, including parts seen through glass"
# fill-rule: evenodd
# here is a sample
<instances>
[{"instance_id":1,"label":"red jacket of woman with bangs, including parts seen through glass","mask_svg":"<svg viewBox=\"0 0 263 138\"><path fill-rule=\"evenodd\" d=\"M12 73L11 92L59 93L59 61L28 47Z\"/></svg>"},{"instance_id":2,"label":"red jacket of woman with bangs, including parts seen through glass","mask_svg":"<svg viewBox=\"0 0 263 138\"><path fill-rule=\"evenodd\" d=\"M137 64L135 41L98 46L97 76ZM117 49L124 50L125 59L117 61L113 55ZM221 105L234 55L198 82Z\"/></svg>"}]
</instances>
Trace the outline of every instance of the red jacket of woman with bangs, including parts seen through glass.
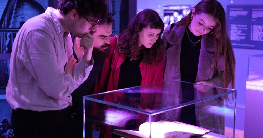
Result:
<instances>
[{"instance_id":1,"label":"red jacket of woman with bangs, including parts seen through glass","mask_svg":"<svg viewBox=\"0 0 263 138\"><path fill-rule=\"evenodd\" d=\"M101 93L105 91L112 91L118 89L120 66L124 62L127 54L120 52L117 44L117 37L110 38L110 54L103 65L102 71L98 76L98 79L94 85L94 93ZM115 51L115 52L114 52ZM164 60L161 58L161 61L155 66L156 61L152 61L152 64L147 64L145 62L140 63L141 70L141 85L157 83L163 81L164 74ZM147 86L142 87L145 89ZM140 103L142 109L154 109L160 106L160 100L151 100L158 97L160 99L161 93L141 93ZM126 100L124 93L107 93L104 96L104 101L109 101L111 103L116 103L114 99L119 99L124 102ZM94 106L94 105L93 105ZM93 110L94 111L94 110ZM137 124L140 125L140 124ZM105 137L111 137L110 134L111 127L101 127L101 132Z\"/></svg>"}]
</instances>

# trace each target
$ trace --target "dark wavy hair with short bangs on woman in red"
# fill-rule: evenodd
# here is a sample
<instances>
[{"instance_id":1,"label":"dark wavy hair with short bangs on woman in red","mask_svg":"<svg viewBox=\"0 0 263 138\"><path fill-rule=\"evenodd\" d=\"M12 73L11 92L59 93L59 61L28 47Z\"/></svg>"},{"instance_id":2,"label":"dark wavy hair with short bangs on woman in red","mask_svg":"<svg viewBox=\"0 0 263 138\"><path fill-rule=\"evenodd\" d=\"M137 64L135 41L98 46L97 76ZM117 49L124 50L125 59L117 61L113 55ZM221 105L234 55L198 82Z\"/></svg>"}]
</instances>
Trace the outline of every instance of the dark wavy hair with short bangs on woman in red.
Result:
<instances>
[{"instance_id":1,"label":"dark wavy hair with short bangs on woman in red","mask_svg":"<svg viewBox=\"0 0 263 138\"><path fill-rule=\"evenodd\" d=\"M138 59L139 32L148 25L150 25L151 29L161 29L161 33L150 49L145 48L142 51L144 52L143 62L151 64L151 62L155 60L158 63L163 55L164 50L161 47L163 44L161 34L164 31L164 23L156 11L152 9L145 9L139 12L129 23L127 29L119 35L120 40L118 42L118 46L122 51L129 55L130 60Z\"/></svg>"}]
</instances>

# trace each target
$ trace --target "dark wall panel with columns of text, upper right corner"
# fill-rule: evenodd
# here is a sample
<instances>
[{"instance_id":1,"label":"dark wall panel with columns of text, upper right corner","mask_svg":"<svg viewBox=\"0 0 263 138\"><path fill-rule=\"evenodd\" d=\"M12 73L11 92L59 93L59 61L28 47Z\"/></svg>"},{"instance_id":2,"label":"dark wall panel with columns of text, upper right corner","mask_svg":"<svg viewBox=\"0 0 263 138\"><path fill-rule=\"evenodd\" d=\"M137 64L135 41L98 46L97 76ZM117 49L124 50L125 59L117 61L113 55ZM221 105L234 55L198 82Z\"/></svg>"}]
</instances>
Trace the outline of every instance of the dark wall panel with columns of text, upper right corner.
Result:
<instances>
[{"instance_id":1,"label":"dark wall panel with columns of text, upper right corner","mask_svg":"<svg viewBox=\"0 0 263 138\"><path fill-rule=\"evenodd\" d=\"M233 47L263 49L263 5L228 5L227 23Z\"/></svg>"}]
</instances>

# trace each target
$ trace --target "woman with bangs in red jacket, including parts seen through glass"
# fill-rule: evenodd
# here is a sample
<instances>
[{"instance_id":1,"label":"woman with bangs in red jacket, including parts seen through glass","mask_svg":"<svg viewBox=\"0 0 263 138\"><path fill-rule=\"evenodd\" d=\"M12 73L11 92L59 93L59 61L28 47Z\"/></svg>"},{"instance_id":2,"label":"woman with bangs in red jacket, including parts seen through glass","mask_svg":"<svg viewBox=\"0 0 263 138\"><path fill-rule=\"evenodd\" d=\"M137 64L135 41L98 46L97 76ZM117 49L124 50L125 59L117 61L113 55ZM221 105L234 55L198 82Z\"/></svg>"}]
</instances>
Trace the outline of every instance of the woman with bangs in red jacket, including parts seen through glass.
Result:
<instances>
[{"instance_id":1,"label":"woman with bangs in red jacket, including parts seen through glass","mask_svg":"<svg viewBox=\"0 0 263 138\"><path fill-rule=\"evenodd\" d=\"M111 50L95 84L95 92L124 89L163 81L164 23L151 9L139 12L120 35L110 38ZM152 96L146 93L105 94L104 101L152 109ZM146 102L145 102L146 101ZM132 104L135 103L135 104ZM128 104L128 105L127 105ZM104 137L111 137L110 127L100 127ZM104 129L104 130L103 130Z\"/></svg>"}]
</instances>

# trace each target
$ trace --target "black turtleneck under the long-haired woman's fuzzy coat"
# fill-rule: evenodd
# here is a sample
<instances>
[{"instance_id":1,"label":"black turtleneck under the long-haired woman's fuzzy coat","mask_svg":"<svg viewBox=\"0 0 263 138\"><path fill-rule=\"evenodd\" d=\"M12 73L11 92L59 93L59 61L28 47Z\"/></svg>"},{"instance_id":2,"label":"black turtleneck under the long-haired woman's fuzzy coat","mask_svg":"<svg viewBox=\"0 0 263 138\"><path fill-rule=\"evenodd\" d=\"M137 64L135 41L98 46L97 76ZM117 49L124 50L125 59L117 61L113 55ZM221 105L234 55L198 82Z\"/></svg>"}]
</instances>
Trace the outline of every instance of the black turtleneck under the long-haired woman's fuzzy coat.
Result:
<instances>
[{"instance_id":1,"label":"black turtleneck under the long-haired woman's fuzzy coat","mask_svg":"<svg viewBox=\"0 0 263 138\"><path fill-rule=\"evenodd\" d=\"M188 35L192 42L197 42L201 39L202 36L195 36L189 29L186 27L184 37L182 39L181 46L181 56L180 56L180 71L181 71L181 80L195 83L198 63L199 63L199 55L201 49L201 40L195 45L189 40ZM182 103L186 103L188 101L193 101L194 98L194 86L193 84L185 84L182 83ZM195 116L195 104L185 106L181 110L180 121L197 125L196 124L196 116Z\"/></svg>"}]
</instances>

